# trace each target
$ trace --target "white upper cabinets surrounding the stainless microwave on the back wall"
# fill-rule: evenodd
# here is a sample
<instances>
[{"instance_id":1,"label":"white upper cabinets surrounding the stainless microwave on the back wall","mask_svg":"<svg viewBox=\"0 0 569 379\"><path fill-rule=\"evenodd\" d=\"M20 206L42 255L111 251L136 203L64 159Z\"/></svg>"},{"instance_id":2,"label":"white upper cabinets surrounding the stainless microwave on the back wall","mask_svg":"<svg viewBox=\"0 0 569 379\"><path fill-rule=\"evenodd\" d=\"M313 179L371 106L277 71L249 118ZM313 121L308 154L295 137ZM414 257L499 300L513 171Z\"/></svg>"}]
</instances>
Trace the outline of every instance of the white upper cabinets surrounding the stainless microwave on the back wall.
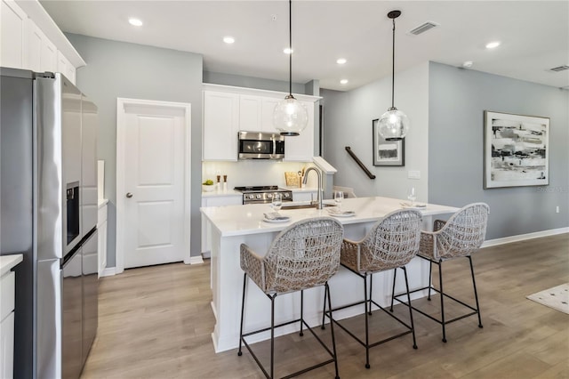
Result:
<instances>
[{"instance_id":1,"label":"white upper cabinets surrounding the stainless microwave on the back wall","mask_svg":"<svg viewBox=\"0 0 569 379\"><path fill-rule=\"evenodd\" d=\"M273 110L286 94L228 85L204 85L203 159L236 161L238 131L276 132ZM314 110L320 98L294 96L307 108L309 124L301 135L285 137L284 160L311 162L314 157ZM221 142L221 139L225 141Z\"/></svg>"}]
</instances>

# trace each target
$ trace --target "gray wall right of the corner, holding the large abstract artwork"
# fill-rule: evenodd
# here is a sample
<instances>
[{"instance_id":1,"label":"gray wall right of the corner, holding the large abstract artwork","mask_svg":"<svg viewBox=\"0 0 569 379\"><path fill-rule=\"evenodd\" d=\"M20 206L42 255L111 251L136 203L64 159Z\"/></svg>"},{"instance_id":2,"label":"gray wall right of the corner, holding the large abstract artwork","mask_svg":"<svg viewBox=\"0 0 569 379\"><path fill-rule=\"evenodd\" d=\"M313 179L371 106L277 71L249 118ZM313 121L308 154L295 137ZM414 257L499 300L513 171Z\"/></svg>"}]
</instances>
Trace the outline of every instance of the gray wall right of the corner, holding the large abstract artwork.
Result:
<instances>
[{"instance_id":1,"label":"gray wall right of the corner, holding the large abstract artwork","mask_svg":"<svg viewBox=\"0 0 569 379\"><path fill-rule=\"evenodd\" d=\"M483 189L485 110L550 117L549 186ZM488 239L568 227L568 113L569 91L431 62L429 201L484 201Z\"/></svg>"}]
</instances>

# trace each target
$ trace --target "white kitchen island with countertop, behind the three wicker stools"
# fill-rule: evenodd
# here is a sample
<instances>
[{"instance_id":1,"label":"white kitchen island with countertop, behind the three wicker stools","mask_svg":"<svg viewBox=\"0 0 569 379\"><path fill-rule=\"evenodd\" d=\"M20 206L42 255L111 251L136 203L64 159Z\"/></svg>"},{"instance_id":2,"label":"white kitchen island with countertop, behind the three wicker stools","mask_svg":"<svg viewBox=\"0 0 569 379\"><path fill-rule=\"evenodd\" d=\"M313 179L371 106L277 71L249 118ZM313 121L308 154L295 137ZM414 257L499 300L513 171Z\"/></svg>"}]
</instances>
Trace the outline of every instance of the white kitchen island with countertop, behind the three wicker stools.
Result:
<instances>
[{"instance_id":1,"label":"white kitchen island with countertop, behind the three wicker stools","mask_svg":"<svg viewBox=\"0 0 569 379\"><path fill-rule=\"evenodd\" d=\"M346 198L342 209L352 210L352 217L338 217L344 226L344 237L351 239L364 238L374 222L385 214L401 209L404 200L397 198ZM458 208L453 206L437 206L428 204L421 209L423 229L431 230L432 216L437 214L453 214ZM268 246L279 231L293 222L303 219L329 215L326 208L281 210L281 214L291 216L289 222L268 223L263 221L263 214L271 212L268 204L247 206L211 206L201 208L204 222L209 223L212 241L211 285L212 310L216 324L212 333L216 352L234 349L239 343L239 320L241 315L241 299L243 294L243 270L239 265L239 246L242 243L251 246L258 254L265 254ZM407 265L409 286L411 289L427 286L429 283L429 263L420 258L413 259ZM376 274L373 277L373 299L387 304L391 296L392 271ZM330 279L333 308L358 300L363 300L361 278L357 278L344 268ZM244 333L270 325L270 301L251 281L248 284ZM403 280L397 280L397 292L402 292ZM415 297L423 294L416 293ZM280 323L300 317L300 293L277 296L275 322ZM310 289L304 294L304 317L310 326L317 326L322 320L324 287ZM335 319L345 319L362 313L364 308L352 307L334 312ZM297 325L289 325L276 330L276 335L293 333ZM253 336L252 336L253 337ZM251 342L255 341L250 337ZM268 339L268 333L254 335L257 341Z\"/></svg>"}]
</instances>

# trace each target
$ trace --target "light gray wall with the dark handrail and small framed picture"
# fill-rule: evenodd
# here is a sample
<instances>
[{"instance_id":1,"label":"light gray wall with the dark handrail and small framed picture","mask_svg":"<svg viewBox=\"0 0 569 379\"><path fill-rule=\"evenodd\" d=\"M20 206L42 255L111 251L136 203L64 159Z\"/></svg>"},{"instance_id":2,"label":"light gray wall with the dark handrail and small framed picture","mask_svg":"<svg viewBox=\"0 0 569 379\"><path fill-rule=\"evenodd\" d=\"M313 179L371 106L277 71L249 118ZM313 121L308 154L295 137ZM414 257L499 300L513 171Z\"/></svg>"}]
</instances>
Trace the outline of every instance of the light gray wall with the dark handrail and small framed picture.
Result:
<instances>
[{"instance_id":1,"label":"light gray wall with the dark handrail and small framed picture","mask_svg":"<svg viewBox=\"0 0 569 379\"><path fill-rule=\"evenodd\" d=\"M428 62L396 76L395 105L405 112L412 125L405 137L405 166L373 165L372 120L380 118L391 106L391 77L348 92L321 90L325 140L322 156L338 170L334 184L353 188L359 197L403 199L407 189L414 187L418 200L427 201L428 79ZM346 146L375 174L375 179L369 179L349 157ZM421 179L408 179L409 170L420 171Z\"/></svg>"}]
</instances>

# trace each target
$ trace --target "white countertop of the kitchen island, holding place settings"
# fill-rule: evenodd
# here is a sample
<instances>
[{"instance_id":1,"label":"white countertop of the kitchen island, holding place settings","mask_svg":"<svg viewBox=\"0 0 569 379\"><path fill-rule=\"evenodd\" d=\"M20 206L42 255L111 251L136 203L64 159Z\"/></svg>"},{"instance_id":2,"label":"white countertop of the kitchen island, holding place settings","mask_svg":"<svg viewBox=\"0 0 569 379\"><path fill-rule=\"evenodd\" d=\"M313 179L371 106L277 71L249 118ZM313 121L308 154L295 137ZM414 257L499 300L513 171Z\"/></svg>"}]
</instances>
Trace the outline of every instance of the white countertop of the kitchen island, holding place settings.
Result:
<instances>
[{"instance_id":1,"label":"white countertop of the kitchen island, holding place settings","mask_svg":"<svg viewBox=\"0 0 569 379\"><path fill-rule=\"evenodd\" d=\"M325 200L329 202L331 200ZM338 217L342 224L373 222L379 220L385 214L401 209L401 203L406 200L397 198L345 198L341 207L343 210L354 211L352 217ZM421 214L453 214L459 208L453 206L438 206L428 204L421 208ZM263 221L263 214L272 212L268 204L255 204L246 206L210 206L201 208L202 214L212 222L213 226L220 231L221 236L242 236L249 234L266 233L270 231L283 230L293 222L318 216L330 215L326 208L318 210L316 208L281 210L280 214L288 215L291 220L288 222L271 223Z\"/></svg>"}]
</instances>

